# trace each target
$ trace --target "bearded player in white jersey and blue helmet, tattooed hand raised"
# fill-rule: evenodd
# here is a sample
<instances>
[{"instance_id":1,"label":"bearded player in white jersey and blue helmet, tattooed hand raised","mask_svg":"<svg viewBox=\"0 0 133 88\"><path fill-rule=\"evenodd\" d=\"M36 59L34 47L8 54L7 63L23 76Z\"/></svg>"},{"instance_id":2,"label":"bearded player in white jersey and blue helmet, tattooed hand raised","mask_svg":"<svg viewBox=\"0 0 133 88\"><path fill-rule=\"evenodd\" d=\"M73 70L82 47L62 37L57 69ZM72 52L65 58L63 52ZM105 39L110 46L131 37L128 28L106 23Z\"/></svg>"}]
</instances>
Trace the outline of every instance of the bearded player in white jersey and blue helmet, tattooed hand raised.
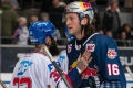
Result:
<instances>
[{"instance_id":1,"label":"bearded player in white jersey and blue helmet, tattooed hand raised","mask_svg":"<svg viewBox=\"0 0 133 88\"><path fill-rule=\"evenodd\" d=\"M34 52L22 57L16 65L9 88L66 88L54 66L44 53L48 47L60 68L65 73L65 78L72 86L78 88L81 84L81 74L91 62L91 53L85 51L79 56L78 66L71 73L68 72L68 58L65 51L61 52L54 42L55 28L47 21L33 22L29 28L30 41L35 45Z\"/></svg>"}]
</instances>

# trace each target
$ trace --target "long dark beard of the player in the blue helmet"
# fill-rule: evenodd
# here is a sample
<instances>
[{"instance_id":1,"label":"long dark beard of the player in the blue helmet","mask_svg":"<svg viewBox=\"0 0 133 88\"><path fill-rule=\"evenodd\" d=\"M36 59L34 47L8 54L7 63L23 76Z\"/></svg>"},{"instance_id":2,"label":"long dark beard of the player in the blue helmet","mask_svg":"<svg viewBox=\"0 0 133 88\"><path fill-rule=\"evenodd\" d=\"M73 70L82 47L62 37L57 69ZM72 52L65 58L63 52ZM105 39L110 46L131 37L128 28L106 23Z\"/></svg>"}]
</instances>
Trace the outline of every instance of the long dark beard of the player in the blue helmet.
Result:
<instances>
[{"instance_id":1,"label":"long dark beard of the player in the blue helmet","mask_svg":"<svg viewBox=\"0 0 133 88\"><path fill-rule=\"evenodd\" d=\"M52 54L52 56L59 55L60 50L58 48L55 41L52 38L51 42L52 44L50 46L50 53Z\"/></svg>"}]
</instances>

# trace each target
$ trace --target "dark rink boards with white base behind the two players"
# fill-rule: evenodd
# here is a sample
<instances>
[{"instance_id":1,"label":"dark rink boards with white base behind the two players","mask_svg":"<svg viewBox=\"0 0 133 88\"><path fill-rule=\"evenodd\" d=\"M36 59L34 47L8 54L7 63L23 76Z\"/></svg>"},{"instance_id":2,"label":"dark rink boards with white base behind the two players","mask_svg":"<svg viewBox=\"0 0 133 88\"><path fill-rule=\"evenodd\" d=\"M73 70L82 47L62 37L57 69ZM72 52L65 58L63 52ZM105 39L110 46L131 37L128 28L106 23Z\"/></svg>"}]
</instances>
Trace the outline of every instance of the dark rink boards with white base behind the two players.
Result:
<instances>
[{"instance_id":1,"label":"dark rink boards with white base behind the two players","mask_svg":"<svg viewBox=\"0 0 133 88\"><path fill-rule=\"evenodd\" d=\"M10 84L12 72L16 63L29 52L33 51L33 46L14 46L14 45L1 45L1 79L7 85ZM60 50L64 50L65 46L59 46ZM120 59L125 73L127 88L133 87L133 79L125 70L125 66L129 66L133 72L133 47L119 47ZM0 86L0 88L2 88Z\"/></svg>"}]
</instances>

